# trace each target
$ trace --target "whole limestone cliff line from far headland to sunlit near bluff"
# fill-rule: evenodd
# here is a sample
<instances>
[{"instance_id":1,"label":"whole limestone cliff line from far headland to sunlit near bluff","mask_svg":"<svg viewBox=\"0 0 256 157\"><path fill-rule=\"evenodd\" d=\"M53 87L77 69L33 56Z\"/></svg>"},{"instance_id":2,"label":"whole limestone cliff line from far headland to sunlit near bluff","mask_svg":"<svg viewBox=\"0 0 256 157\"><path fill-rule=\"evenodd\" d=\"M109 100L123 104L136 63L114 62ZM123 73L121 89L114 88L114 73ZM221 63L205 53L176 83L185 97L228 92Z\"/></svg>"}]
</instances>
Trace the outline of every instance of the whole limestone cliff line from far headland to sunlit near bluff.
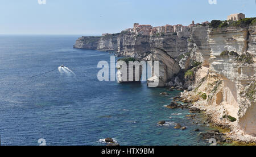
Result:
<instances>
[{"instance_id":1,"label":"whole limestone cliff line from far headland to sunlit near bluff","mask_svg":"<svg viewBox=\"0 0 256 157\"><path fill-rule=\"evenodd\" d=\"M184 90L177 100L203 111L214 126L230 129L228 139L256 142L256 26L214 23L161 34L158 27L135 24L119 34L79 38L74 48L108 49L117 56L159 61L159 75L148 84L159 81L158 87Z\"/></svg>"}]
</instances>

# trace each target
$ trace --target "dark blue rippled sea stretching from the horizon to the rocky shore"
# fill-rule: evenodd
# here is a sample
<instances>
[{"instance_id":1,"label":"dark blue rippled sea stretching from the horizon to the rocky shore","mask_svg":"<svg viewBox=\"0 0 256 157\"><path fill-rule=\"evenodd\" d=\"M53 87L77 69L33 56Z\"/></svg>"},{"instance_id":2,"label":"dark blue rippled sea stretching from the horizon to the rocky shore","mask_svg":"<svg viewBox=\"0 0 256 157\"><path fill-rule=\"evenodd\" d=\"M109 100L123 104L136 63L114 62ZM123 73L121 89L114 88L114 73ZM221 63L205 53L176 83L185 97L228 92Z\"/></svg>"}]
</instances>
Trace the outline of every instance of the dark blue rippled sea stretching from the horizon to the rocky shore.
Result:
<instances>
[{"instance_id":1,"label":"dark blue rippled sea stretching from the horizon to the rocky shore","mask_svg":"<svg viewBox=\"0 0 256 157\"><path fill-rule=\"evenodd\" d=\"M98 81L97 63L110 54L73 49L77 37L0 37L1 144L104 145L107 137L121 145L207 144L193 131L207 128L192 125L188 110L163 107L178 92ZM61 64L75 75L59 72ZM175 122L188 129L175 130Z\"/></svg>"}]
</instances>

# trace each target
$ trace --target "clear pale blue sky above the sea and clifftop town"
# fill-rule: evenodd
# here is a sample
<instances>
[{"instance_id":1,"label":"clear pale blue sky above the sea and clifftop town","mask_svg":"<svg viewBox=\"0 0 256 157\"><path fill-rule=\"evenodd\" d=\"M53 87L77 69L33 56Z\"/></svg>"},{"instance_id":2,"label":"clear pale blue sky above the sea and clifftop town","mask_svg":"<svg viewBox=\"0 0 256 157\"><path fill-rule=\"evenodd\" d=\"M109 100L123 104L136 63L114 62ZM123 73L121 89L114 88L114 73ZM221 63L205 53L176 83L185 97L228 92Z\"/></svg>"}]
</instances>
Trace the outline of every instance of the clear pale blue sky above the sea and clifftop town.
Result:
<instances>
[{"instance_id":1,"label":"clear pale blue sky above the sea and clifftop town","mask_svg":"<svg viewBox=\"0 0 256 157\"><path fill-rule=\"evenodd\" d=\"M133 23L188 25L225 20L229 14L256 16L255 0L0 0L0 34L102 34Z\"/></svg>"}]
</instances>

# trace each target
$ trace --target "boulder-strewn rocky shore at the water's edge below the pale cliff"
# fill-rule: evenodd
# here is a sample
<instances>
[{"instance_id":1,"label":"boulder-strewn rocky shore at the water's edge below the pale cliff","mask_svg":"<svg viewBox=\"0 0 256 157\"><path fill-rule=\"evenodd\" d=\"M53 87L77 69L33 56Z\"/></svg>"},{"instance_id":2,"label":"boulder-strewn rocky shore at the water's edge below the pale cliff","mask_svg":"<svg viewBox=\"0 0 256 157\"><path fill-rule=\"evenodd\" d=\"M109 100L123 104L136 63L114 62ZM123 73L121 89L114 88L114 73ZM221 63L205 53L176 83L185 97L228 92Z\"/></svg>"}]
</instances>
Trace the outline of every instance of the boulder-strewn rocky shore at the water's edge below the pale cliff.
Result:
<instances>
[{"instance_id":1,"label":"boulder-strewn rocky shore at the water's edge below the pale cliff","mask_svg":"<svg viewBox=\"0 0 256 157\"><path fill-rule=\"evenodd\" d=\"M160 95L163 95L163 94L160 93ZM181 104L179 102L183 102L184 104ZM200 108L197 108L192 103L193 103L192 101L184 100L180 94L179 96L174 97L173 101L170 103L170 105L167 105L166 108L168 109L180 108L180 109L189 110L189 113L191 114L187 115L187 119L196 119L197 114L204 114L205 117L203 118L204 119L203 125L213 130L200 132L200 129L196 129L195 131L200 132L199 133L200 137L209 142L211 139L216 139L217 143L215 144L220 144L220 145L256 146L256 143L254 140L245 141L245 140L241 140L240 138L237 138L236 135L234 136L232 134L232 126L224 123L216 123L216 121L214 121L214 117L212 116L212 114L209 114L207 110L201 110ZM164 125L164 123L165 121L158 122L159 125ZM193 124L199 125L199 123L197 122L193 122ZM182 126L182 124L180 123L177 123L174 129L185 130L187 129L187 127Z\"/></svg>"}]
</instances>

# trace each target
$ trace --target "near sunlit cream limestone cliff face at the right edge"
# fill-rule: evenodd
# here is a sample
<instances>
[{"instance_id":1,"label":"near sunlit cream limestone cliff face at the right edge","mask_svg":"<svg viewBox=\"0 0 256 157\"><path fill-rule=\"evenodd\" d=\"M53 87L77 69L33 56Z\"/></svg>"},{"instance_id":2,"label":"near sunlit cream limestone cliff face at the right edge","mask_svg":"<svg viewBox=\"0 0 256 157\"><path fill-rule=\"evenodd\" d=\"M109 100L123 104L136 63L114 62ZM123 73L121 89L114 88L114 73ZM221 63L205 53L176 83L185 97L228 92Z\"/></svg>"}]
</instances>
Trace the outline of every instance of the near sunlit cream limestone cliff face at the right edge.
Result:
<instances>
[{"instance_id":1,"label":"near sunlit cream limestone cliff face at the right edge","mask_svg":"<svg viewBox=\"0 0 256 157\"><path fill-rule=\"evenodd\" d=\"M200 28L199 28L200 29ZM229 126L233 139L256 141L255 27L203 28L192 32L191 58L203 63L193 76L195 89L181 97L205 110L215 124ZM229 118L236 118L230 122Z\"/></svg>"}]
</instances>

